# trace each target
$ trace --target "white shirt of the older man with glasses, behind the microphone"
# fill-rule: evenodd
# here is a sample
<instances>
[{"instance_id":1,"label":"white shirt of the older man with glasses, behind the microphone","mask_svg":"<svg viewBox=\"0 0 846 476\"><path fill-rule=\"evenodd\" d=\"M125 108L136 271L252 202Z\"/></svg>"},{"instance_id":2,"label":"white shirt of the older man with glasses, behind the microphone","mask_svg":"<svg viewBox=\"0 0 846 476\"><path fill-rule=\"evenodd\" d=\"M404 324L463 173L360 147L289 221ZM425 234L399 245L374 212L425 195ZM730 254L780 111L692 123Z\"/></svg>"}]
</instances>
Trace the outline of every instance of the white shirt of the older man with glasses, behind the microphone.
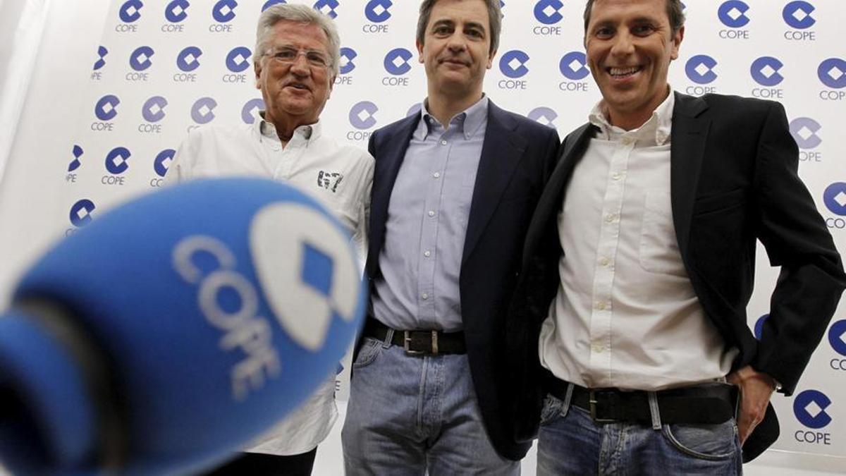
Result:
<instances>
[{"instance_id":1,"label":"white shirt of the older man with glasses, behind the microphone","mask_svg":"<svg viewBox=\"0 0 846 476\"><path fill-rule=\"evenodd\" d=\"M373 165L369 153L339 146L323 136L319 122L299 126L283 145L272 124L256 120L253 125L191 130L179 146L165 181L252 176L296 185L341 221L353 235L363 262ZM255 440L256 446L249 451L295 455L312 450L327 437L338 418L334 395L332 372L309 400Z\"/></svg>"}]
</instances>

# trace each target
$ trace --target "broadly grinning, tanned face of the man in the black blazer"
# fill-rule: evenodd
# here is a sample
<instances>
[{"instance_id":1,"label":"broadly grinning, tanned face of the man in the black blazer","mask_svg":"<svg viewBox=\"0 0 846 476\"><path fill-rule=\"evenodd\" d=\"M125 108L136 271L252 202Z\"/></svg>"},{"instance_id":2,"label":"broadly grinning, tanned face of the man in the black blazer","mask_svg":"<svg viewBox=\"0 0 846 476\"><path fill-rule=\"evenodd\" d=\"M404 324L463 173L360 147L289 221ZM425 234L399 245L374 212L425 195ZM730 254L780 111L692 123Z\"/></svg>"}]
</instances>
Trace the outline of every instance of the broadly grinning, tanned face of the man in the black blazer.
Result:
<instances>
[{"instance_id":1,"label":"broadly grinning, tanned face of the man in the black blazer","mask_svg":"<svg viewBox=\"0 0 846 476\"><path fill-rule=\"evenodd\" d=\"M591 74L609 121L640 127L667 97L667 71L684 27L673 31L667 0L596 0L585 31Z\"/></svg>"}]
</instances>

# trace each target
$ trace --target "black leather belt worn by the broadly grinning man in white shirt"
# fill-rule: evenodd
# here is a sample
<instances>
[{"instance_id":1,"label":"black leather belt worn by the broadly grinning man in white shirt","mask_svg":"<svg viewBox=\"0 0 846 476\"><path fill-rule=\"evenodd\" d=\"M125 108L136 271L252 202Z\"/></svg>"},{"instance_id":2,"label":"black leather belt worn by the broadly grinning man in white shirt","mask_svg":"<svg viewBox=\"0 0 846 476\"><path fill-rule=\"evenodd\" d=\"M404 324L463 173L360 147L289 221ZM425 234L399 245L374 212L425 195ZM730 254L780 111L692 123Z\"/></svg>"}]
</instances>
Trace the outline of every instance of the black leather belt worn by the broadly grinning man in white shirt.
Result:
<instances>
[{"instance_id":1,"label":"black leather belt worn by the broadly grinning man in white shirt","mask_svg":"<svg viewBox=\"0 0 846 476\"><path fill-rule=\"evenodd\" d=\"M547 391L564 400L569 383L547 380ZM734 417L737 387L706 384L656 391L661 423L717 424ZM644 390L586 389L573 385L570 405L591 412L596 423L651 424L649 396Z\"/></svg>"}]
</instances>

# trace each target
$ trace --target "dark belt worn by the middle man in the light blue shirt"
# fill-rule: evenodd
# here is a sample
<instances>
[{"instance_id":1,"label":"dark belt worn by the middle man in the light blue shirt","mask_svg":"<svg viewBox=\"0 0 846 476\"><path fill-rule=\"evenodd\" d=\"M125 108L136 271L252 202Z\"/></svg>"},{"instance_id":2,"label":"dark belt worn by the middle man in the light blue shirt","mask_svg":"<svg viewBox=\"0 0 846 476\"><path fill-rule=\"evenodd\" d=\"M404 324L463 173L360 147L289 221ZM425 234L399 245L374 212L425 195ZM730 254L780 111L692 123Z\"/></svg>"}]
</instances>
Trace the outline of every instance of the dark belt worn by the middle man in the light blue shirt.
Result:
<instances>
[{"instance_id":1,"label":"dark belt worn by the middle man in the light blue shirt","mask_svg":"<svg viewBox=\"0 0 846 476\"><path fill-rule=\"evenodd\" d=\"M367 318L365 337L385 340L391 328L375 318ZM393 329L391 343L401 346L405 353L415 356L437 356L438 354L465 354L464 332L442 332L440 330L397 330Z\"/></svg>"}]
</instances>

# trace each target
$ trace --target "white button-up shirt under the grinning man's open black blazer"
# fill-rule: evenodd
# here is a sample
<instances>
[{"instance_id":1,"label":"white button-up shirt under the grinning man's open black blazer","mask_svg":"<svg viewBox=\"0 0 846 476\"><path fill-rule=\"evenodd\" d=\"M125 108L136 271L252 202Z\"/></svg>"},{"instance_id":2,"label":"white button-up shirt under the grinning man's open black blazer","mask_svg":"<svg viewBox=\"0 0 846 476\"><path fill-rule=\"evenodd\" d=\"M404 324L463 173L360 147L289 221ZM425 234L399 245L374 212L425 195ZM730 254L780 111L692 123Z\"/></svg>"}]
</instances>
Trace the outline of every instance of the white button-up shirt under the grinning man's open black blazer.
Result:
<instances>
[{"instance_id":1,"label":"white button-up shirt under the grinning man's open black blazer","mask_svg":"<svg viewBox=\"0 0 846 476\"><path fill-rule=\"evenodd\" d=\"M541 363L590 388L661 390L722 379L736 350L706 317L678 252L670 204L673 91L644 125L602 102L558 215L566 256L541 328ZM684 158L676 158L684 160Z\"/></svg>"}]
</instances>

